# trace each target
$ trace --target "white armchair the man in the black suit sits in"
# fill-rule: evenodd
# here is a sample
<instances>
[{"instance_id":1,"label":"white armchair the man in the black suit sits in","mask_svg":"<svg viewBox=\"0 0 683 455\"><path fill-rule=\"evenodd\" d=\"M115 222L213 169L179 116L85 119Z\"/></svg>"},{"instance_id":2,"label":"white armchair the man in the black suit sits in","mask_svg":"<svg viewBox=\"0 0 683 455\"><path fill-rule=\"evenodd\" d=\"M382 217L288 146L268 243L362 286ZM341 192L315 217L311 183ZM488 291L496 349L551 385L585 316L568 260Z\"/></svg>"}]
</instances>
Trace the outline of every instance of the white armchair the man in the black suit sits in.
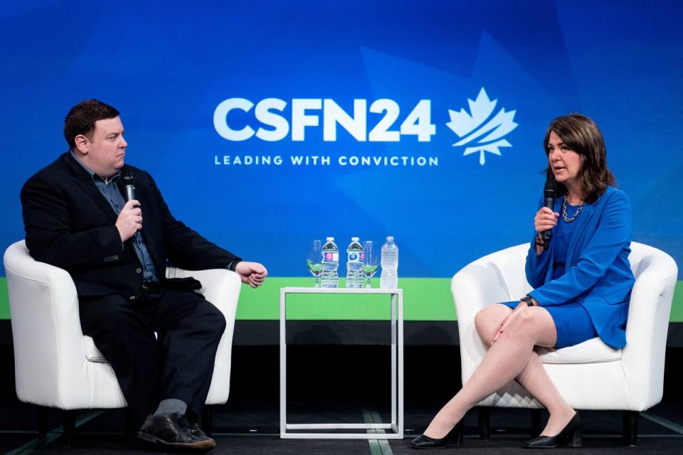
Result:
<instances>
[{"instance_id":1,"label":"white armchair the man in the black suit sits in","mask_svg":"<svg viewBox=\"0 0 683 455\"><path fill-rule=\"evenodd\" d=\"M4 265L18 399L61 410L126 407L112 367L95 348L92 338L83 335L78 296L68 272L34 260L23 240L7 248ZM203 285L199 292L226 317L226 331L218 345L206 399L207 405L223 404L230 392L240 278L224 269L189 272L171 267L166 275L198 279ZM210 422L203 424L210 425Z\"/></svg>"}]
</instances>

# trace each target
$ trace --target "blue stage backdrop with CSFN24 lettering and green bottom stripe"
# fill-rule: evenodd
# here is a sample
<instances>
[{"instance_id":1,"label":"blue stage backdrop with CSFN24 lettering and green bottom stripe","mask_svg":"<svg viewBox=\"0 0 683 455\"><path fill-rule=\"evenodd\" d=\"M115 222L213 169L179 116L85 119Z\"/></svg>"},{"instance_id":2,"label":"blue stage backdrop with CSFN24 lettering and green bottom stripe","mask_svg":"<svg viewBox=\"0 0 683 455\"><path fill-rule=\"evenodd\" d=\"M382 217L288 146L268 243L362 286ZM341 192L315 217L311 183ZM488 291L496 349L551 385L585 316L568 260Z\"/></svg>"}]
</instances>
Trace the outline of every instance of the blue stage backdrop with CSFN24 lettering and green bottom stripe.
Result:
<instances>
[{"instance_id":1,"label":"blue stage backdrop with CSFN24 lettering and green bottom stripe","mask_svg":"<svg viewBox=\"0 0 683 455\"><path fill-rule=\"evenodd\" d=\"M277 319L327 235L393 235L406 319L455 319L452 274L533 237L544 132L569 112L602 129L634 240L680 265L682 18L666 0L5 4L0 245L23 238L21 185L94 97L176 218L268 267L240 319ZM5 289L0 304L8 318ZM386 317L350 305L292 317Z\"/></svg>"}]
</instances>

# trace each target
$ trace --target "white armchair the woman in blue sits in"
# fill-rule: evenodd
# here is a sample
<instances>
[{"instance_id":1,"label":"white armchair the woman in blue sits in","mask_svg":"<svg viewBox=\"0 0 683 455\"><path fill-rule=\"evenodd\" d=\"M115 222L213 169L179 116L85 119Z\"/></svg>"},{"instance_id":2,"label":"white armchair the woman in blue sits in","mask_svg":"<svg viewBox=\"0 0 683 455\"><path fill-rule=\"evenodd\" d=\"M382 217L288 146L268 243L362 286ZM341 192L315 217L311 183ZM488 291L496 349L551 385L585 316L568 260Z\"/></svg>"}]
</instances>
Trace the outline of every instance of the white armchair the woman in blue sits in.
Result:
<instances>
[{"instance_id":1,"label":"white armchair the woman in blue sits in","mask_svg":"<svg viewBox=\"0 0 683 455\"><path fill-rule=\"evenodd\" d=\"M489 304L519 299L531 290L524 274L528 249L529 244L524 244L494 252L468 264L452 278L463 383L486 353L475 329L477 312ZM638 413L662 399L669 313L678 269L665 252L636 242L631 243L629 261L635 285L628 312L627 345L617 350L593 338L541 355L541 360L575 409L624 411L624 436L632 445L637 438ZM480 406L542 407L514 381L482 400ZM482 437L488 432L487 409L480 413Z\"/></svg>"}]
</instances>

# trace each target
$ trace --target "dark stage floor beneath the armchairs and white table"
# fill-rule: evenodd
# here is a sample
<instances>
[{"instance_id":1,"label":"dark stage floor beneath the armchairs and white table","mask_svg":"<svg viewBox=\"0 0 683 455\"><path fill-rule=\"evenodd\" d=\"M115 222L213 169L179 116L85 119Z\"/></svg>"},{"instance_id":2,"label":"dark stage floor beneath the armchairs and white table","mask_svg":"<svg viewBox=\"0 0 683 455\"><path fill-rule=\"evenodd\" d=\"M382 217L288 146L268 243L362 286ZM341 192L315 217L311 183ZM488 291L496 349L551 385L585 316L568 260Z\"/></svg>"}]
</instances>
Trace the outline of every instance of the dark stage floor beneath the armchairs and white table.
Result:
<instances>
[{"instance_id":1,"label":"dark stage floor beneath the armchairs and white table","mask_svg":"<svg viewBox=\"0 0 683 455\"><path fill-rule=\"evenodd\" d=\"M332 404L329 404L332 405ZM120 410L84 411L78 416L78 427L69 447L65 445L59 426L59 412L53 412L54 427L47 437L38 437L24 420L9 422L12 415L31 414L26 405L18 405L12 412L4 413L7 427L0 432L0 450L5 454L108 454L149 453L137 441L123 434L124 413ZM640 453L681 454L683 449L683 412L678 405L657 405L642 414L637 445L628 447L621 439L620 412L583 411L583 448L556 449L554 453L571 450L576 454ZM7 411L7 409L5 409ZM337 410L329 412L332 421L362 422L364 415L372 410L358 410L353 406L338 404ZM277 407L263 405L243 408L226 405L215 410L213 437L218 447L211 454L415 454L407 443L419 434L433 416L433 407L406 410L406 439L403 441L378 440L319 440L280 439ZM303 419L312 415L299 414ZM479 437L477 414L474 410L465 419L465 444L460 448L448 448L439 453L463 454L513 454L528 453L521 443L529 437L530 413L526 410L492 410L492 436L488 441ZM524 424L528 424L524 426ZM420 452L418 452L420 453Z\"/></svg>"}]
</instances>

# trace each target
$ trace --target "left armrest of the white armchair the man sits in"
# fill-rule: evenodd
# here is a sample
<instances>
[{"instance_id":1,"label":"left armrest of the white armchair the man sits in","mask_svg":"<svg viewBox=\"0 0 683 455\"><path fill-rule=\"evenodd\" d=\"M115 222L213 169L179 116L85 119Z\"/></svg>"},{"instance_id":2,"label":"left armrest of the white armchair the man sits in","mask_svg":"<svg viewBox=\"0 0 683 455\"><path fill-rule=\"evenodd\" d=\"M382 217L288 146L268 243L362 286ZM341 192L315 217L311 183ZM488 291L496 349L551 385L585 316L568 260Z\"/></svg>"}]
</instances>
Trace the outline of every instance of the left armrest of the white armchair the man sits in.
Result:
<instances>
[{"instance_id":1,"label":"left armrest of the white armchair the man sits in","mask_svg":"<svg viewBox=\"0 0 683 455\"><path fill-rule=\"evenodd\" d=\"M86 361L73 280L63 269L36 262L23 241L6 250L4 265L17 397L63 407L63 393L78 387Z\"/></svg>"}]
</instances>

